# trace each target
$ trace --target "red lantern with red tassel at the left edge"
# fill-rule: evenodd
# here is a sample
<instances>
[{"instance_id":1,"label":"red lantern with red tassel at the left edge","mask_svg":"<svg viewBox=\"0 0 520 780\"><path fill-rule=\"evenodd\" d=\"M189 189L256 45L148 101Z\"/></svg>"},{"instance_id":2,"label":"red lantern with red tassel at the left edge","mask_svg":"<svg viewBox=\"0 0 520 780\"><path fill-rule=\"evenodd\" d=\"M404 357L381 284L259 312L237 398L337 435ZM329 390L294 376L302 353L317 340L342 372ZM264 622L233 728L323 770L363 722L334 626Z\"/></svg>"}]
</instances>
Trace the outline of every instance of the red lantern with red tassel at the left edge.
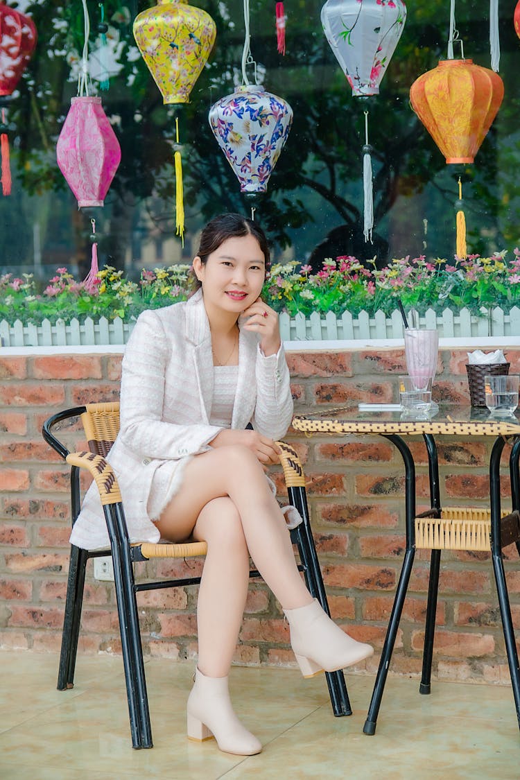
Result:
<instances>
[{"instance_id":1,"label":"red lantern with red tassel at the left edge","mask_svg":"<svg viewBox=\"0 0 520 780\"><path fill-rule=\"evenodd\" d=\"M2 157L2 194L11 194L7 103L22 76L37 41L36 27L30 16L0 2L0 156Z\"/></svg>"}]
</instances>

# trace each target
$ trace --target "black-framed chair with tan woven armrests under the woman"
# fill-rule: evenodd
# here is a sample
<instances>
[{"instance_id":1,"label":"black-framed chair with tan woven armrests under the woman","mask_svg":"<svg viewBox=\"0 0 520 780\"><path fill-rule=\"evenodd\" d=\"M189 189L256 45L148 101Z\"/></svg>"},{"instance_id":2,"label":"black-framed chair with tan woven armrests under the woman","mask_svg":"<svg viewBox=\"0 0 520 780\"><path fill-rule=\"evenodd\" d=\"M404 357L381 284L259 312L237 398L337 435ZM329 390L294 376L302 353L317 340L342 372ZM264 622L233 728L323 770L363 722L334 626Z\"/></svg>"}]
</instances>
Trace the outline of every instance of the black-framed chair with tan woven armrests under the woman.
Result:
<instances>
[{"instance_id":1,"label":"black-framed chair with tan woven armrests under the woman","mask_svg":"<svg viewBox=\"0 0 520 780\"><path fill-rule=\"evenodd\" d=\"M62 441L59 441L52 433L55 426L75 417L81 418L89 452L69 452ZM119 485L111 466L105 460L118 431L119 403L93 403L87 404L87 406L76 406L49 417L43 426L42 433L45 441L71 466L70 487L73 523L80 513L80 469L86 469L94 477L97 484L111 543L109 549L97 551L82 550L73 544L71 545L58 690L67 690L72 688L74 684L87 561L89 558L111 555L114 566L115 595L132 744L134 748L143 748L152 747L153 743L136 593L140 590L198 584L200 576L136 583L133 562L149 561L151 558L190 558L205 555L207 544L203 541L186 544L129 543ZM316 597L325 611L330 614L313 535L310 530L302 464L292 447L282 441L278 441L278 445L281 448L281 465L284 470L289 501L298 509L303 519L303 523L290 532L292 542L297 545L299 551L301 561L299 568L304 573L307 587L309 587L313 597ZM249 575L260 576L254 570ZM326 677L334 715L352 714L343 672L327 673Z\"/></svg>"}]
</instances>

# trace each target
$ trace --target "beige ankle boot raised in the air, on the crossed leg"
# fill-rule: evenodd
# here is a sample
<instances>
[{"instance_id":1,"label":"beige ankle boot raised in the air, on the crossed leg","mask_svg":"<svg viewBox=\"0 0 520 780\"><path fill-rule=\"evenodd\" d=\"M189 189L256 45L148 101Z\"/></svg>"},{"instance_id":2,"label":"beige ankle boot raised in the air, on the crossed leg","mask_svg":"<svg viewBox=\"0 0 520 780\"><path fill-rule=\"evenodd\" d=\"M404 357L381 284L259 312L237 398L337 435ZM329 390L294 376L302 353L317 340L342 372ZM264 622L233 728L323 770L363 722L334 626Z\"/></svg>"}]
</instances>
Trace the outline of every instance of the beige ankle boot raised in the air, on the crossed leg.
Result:
<instances>
[{"instance_id":1,"label":"beige ankle boot raised in the air, on the crossed leg","mask_svg":"<svg viewBox=\"0 0 520 780\"><path fill-rule=\"evenodd\" d=\"M297 609L284 609L291 628L291 646L304 677L335 672L370 658L373 647L341 631L314 599Z\"/></svg>"}]
</instances>

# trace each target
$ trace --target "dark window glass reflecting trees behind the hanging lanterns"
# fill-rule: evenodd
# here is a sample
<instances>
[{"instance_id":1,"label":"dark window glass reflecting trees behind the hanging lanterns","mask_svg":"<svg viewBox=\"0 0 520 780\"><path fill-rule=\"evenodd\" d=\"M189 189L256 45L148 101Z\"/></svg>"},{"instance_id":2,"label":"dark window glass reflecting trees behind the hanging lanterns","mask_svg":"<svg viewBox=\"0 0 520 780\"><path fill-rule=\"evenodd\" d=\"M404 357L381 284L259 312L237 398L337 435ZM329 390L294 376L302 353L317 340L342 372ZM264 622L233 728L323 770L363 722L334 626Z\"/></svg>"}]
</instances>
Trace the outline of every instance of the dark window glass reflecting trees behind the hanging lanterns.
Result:
<instances>
[{"instance_id":1,"label":"dark window glass reflecting trees behind the hanging lanterns","mask_svg":"<svg viewBox=\"0 0 520 780\"><path fill-rule=\"evenodd\" d=\"M391 0L381 0L385 2ZM78 278L90 267L90 218L97 221L100 264L137 278L142 268L189 262L207 219L221 211L250 214L251 204L218 147L207 114L241 83L244 20L238 0L201 0L217 24L207 67L179 116L186 239L175 236L175 107L166 107L136 50L132 23L148 2L105 0L110 87L100 94L122 148L104 208L78 210L58 169L55 146L76 94L83 47L80 2L10 2L33 16L38 44L9 102L12 194L0 197L0 267L48 279L66 266ZM101 5L88 2L93 72L101 56ZM255 218L275 259L354 254L363 260L426 253L453 257L458 176L462 176L469 251L490 254L518 243L520 157L515 72L520 41L510 6L501 5L504 102L474 165L446 165L409 104L412 82L447 55L449 4L416 0L377 97L352 97L327 43L317 0L286 2L286 54L277 51L274 0L251 0L251 50L265 87L292 106L288 142L259 198ZM457 27L466 57L490 67L489 5L460 0ZM455 56L460 56L455 44ZM248 70L253 80L253 68ZM373 147L373 244L363 239L364 112Z\"/></svg>"}]
</instances>

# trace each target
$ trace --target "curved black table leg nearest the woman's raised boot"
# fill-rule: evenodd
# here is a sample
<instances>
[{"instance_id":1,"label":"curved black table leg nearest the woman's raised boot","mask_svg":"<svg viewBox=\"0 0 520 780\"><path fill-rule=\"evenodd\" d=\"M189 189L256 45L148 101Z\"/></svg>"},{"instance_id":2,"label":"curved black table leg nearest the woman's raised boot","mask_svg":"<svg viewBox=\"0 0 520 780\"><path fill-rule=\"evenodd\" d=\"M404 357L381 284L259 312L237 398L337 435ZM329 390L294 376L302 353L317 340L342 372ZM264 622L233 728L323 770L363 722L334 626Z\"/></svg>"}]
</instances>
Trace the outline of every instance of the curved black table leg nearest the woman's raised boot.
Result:
<instances>
[{"instance_id":1,"label":"curved black table leg nearest the woman's raised boot","mask_svg":"<svg viewBox=\"0 0 520 780\"><path fill-rule=\"evenodd\" d=\"M405 518L406 518L406 551L405 560L399 576L398 587L395 593L394 605L392 607L390 622L388 623L387 636L384 640L383 652L377 669L376 683L373 687L372 699L366 716L363 733L371 736L376 732L377 714L383 698L384 685L387 680L388 668L392 652L394 650L395 637L397 636L401 612L405 603L406 591L408 590L410 575L412 573L413 559L416 555L416 534L414 519L416 516L416 467L413 463L412 453L408 445L396 434L383 434L384 438L389 439L394 444L405 463Z\"/></svg>"}]
</instances>

